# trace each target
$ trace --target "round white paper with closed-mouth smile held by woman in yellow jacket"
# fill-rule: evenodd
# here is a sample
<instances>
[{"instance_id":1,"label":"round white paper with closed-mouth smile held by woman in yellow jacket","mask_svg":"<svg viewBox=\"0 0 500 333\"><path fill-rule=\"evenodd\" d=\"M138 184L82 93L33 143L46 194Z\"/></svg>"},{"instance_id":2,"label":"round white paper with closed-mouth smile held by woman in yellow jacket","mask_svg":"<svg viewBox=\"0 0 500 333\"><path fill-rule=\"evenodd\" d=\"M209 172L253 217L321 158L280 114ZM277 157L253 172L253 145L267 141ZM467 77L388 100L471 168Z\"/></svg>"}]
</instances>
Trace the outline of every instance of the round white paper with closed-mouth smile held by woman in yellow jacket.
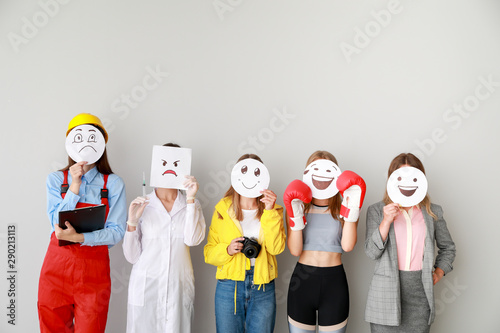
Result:
<instances>
[{"instance_id":1,"label":"round white paper with closed-mouth smile held by woman in yellow jacket","mask_svg":"<svg viewBox=\"0 0 500 333\"><path fill-rule=\"evenodd\" d=\"M260 191L266 190L270 181L269 170L253 158L239 161L231 171L231 185L239 195L247 198L260 197Z\"/></svg>"}]
</instances>

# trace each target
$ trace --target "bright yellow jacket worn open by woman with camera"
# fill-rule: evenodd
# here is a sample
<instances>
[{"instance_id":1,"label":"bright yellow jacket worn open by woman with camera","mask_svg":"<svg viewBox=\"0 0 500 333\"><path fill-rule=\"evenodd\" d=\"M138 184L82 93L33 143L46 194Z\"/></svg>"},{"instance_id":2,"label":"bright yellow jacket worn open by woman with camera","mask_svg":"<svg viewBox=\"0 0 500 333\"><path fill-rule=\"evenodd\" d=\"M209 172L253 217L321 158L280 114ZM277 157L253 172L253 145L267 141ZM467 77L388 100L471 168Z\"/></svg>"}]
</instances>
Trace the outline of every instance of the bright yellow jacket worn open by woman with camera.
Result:
<instances>
[{"instance_id":1,"label":"bright yellow jacket worn open by woman with camera","mask_svg":"<svg viewBox=\"0 0 500 333\"><path fill-rule=\"evenodd\" d=\"M215 206L212 225L205 245L205 262L217 266L217 279L244 281L245 271L250 268L250 260L243 253L230 256L227 246L238 237L243 237L240 221L236 219L230 197L223 198ZM219 214L222 219L219 218ZM283 207L274 205L271 210L264 210L260 218L259 244L262 246L255 258L254 283L265 284L278 277L276 255L285 249L285 227L283 225Z\"/></svg>"}]
</instances>

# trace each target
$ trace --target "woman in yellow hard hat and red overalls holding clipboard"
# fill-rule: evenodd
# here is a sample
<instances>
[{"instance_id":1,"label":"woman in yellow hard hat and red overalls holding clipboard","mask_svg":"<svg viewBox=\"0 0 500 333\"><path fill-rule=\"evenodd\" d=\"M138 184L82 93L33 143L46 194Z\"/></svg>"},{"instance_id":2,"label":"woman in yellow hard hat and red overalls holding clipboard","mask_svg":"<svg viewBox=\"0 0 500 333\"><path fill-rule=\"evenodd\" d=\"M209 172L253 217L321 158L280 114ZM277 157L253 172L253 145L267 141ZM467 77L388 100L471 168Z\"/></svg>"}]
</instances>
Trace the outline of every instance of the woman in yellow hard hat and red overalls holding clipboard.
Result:
<instances>
[{"instance_id":1,"label":"woman in yellow hard hat and red overalls holding clipboard","mask_svg":"<svg viewBox=\"0 0 500 333\"><path fill-rule=\"evenodd\" d=\"M99 118L74 117L66 132L68 165L47 177L51 239L38 286L41 332L104 332L111 279L108 248L125 233L125 186L106 156ZM79 233L59 212L106 205L103 229ZM63 226L61 228L60 226ZM69 245L64 245L69 244Z\"/></svg>"}]
</instances>

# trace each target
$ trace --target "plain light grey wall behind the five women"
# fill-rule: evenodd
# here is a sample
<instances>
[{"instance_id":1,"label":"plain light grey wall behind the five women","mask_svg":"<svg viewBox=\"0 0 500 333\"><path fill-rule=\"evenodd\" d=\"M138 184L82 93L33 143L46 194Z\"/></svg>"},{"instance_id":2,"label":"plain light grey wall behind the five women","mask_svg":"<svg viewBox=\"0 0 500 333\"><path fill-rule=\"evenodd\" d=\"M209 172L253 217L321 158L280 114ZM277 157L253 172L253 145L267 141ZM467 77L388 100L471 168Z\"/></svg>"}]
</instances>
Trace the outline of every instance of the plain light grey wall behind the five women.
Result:
<instances>
[{"instance_id":1,"label":"plain light grey wall behind the five women","mask_svg":"<svg viewBox=\"0 0 500 333\"><path fill-rule=\"evenodd\" d=\"M436 286L433 331L498 332L499 41L494 0L1 1L0 331L38 331L45 178L65 163L69 120L91 112L106 122L128 202L141 194L152 145L191 147L208 224L226 167L244 152L263 158L281 197L314 150L329 150L366 180L365 207L381 199L391 159L417 153L458 248L455 270ZM369 331L365 212L344 256L350 332ZM15 327L6 317L10 223ZM215 332L204 244L191 250L194 332ZM285 250L278 261L281 333L296 258ZM108 332L125 330L130 268L115 246Z\"/></svg>"}]
</instances>

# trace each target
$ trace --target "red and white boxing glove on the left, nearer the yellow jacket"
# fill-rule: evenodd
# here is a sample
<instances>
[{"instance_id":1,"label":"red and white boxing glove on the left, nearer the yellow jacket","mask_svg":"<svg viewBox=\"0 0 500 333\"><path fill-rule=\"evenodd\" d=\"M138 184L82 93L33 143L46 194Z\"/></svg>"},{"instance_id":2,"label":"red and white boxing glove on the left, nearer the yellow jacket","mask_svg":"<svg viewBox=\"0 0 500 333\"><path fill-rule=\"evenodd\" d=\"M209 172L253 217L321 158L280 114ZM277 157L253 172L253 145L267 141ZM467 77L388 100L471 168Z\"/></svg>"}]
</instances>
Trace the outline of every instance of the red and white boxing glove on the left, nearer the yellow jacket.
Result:
<instances>
[{"instance_id":1,"label":"red and white boxing glove on the left, nearer the yellow jacket","mask_svg":"<svg viewBox=\"0 0 500 333\"><path fill-rule=\"evenodd\" d=\"M306 225L304 216L304 203L312 200L312 191L309 186L301 180L295 179L285 189L283 202L288 213L290 229L302 230Z\"/></svg>"}]
</instances>

